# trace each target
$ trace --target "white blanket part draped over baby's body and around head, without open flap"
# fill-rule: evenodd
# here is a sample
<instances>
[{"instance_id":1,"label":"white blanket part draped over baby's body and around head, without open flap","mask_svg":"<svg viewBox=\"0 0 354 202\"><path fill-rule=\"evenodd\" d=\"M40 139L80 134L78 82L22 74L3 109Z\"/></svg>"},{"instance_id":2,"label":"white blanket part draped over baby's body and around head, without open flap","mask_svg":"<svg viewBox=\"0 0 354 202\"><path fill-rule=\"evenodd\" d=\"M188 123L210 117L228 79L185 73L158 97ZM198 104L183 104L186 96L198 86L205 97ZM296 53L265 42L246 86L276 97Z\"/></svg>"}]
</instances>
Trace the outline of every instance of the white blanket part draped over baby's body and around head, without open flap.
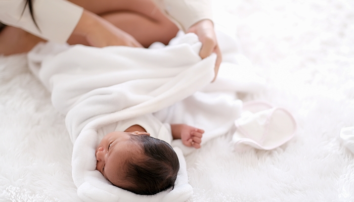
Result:
<instances>
[{"instance_id":1,"label":"white blanket part draped over baby's body and around head, without open flap","mask_svg":"<svg viewBox=\"0 0 354 202\"><path fill-rule=\"evenodd\" d=\"M96 170L97 129L166 108L207 85L215 55L201 60L201 43L188 34L159 49L125 46L72 48L46 43L28 54L32 72L52 92L53 105L66 114L74 142L72 175L85 201L184 201L192 193L184 157L172 191L143 196L112 186ZM63 51L66 50L66 51ZM80 135L79 135L80 134Z\"/></svg>"}]
</instances>

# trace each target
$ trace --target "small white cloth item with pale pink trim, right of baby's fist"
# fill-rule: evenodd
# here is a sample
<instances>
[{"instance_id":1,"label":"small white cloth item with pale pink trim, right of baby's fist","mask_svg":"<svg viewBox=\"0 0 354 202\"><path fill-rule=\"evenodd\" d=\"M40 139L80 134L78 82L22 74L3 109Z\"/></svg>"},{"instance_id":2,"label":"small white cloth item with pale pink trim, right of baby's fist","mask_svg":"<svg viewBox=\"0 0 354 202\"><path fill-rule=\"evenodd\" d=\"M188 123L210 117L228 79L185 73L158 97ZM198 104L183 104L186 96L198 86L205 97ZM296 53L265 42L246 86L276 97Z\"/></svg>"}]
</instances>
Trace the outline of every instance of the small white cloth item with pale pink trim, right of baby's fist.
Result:
<instances>
[{"instance_id":1,"label":"small white cloth item with pale pink trim, right of baby's fist","mask_svg":"<svg viewBox=\"0 0 354 202\"><path fill-rule=\"evenodd\" d=\"M285 109L264 101L244 103L241 117L235 121L235 146L246 144L257 149L274 149L295 134L296 122Z\"/></svg>"}]
</instances>

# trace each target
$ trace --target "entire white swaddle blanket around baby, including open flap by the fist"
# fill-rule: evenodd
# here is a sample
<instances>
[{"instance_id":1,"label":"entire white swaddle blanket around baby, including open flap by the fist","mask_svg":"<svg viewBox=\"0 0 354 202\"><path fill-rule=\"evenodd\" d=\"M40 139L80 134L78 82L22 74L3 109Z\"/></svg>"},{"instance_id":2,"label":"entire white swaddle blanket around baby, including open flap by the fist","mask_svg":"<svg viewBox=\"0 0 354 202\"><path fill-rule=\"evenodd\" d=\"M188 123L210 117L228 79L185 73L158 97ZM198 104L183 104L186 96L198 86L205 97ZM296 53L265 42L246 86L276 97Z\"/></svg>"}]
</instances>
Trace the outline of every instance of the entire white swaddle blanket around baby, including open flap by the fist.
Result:
<instances>
[{"instance_id":1,"label":"entire white swaddle blanket around baby, including open flap by the fist","mask_svg":"<svg viewBox=\"0 0 354 202\"><path fill-rule=\"evenodd\" d=\"M231 47L232 43L224 45ZM242 102L235 99L235 92L260 90L263 80L252 79L252 74L245 76L236 65L224 61L218 79L210 84L216 56L201 60L200 47L196 35L186 34L156 49L82 45L69 48L42 43L28 54L31 71L52 92L55 108L66 115L74 143L72 177L81 199L185 201L192 194L182 151L187 154L193 148L181 141L172 142L181 165L174 189L153 196L113 186L96 170L95 149L98 128L149 113L163 122L203 128L203 143L228 133L242 112ZM234 49L230 47L221 49L231 50L223 54L233 60L230 54ZM245 77L246 82L238 82Z\"/></svg>"}]
</instances>

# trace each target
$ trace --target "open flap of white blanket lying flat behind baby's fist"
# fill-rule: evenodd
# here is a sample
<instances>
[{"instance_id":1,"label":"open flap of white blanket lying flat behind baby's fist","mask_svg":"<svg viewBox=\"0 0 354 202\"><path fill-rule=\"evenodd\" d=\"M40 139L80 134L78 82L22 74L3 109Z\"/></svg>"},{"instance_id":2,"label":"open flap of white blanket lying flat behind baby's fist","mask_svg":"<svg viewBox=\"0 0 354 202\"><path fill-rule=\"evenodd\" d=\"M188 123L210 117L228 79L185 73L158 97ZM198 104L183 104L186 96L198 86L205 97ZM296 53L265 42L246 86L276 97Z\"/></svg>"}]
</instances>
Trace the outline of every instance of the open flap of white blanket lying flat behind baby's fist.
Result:
<instances>
[{"instance_id":1,"label":"open flap of white blanket lying flat behind baby's fist","mask_svg":"<svg viewBox=\"0 0 354 202\"><path fill-rule=\"evenodd\" d=\"M240 117L242 101L226 92L195 92L169 108L154 113L162 122L184 123L205 131L201 145L209 140L228 134L234 121ZM182 149L184 155L196 148L185 146L180 139L173 140L172 146Z\"/></svg>"}]
</instances>

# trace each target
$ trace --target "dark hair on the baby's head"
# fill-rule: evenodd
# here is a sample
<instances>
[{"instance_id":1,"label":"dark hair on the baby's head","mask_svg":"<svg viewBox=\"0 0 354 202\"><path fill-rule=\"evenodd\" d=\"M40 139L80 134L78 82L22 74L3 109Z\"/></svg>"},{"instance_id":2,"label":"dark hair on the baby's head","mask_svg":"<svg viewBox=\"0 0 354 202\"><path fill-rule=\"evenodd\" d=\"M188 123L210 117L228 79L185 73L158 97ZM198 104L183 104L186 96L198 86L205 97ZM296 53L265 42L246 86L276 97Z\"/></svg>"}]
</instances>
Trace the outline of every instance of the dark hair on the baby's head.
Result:
<instances>
[{"instance_id":1,"label":"dark hair on the baby's head","mask_svg":"<svg viewBox=\"0 0 354 202\"><path fill-rule=\"evenodd\" d=\"M142 157L130 158L125 168L124 189L141 195L153 195L174 188L180 162L173 148L165 141L148 135L130 135L142 148Z\"/></svg>"}]
</instances>

